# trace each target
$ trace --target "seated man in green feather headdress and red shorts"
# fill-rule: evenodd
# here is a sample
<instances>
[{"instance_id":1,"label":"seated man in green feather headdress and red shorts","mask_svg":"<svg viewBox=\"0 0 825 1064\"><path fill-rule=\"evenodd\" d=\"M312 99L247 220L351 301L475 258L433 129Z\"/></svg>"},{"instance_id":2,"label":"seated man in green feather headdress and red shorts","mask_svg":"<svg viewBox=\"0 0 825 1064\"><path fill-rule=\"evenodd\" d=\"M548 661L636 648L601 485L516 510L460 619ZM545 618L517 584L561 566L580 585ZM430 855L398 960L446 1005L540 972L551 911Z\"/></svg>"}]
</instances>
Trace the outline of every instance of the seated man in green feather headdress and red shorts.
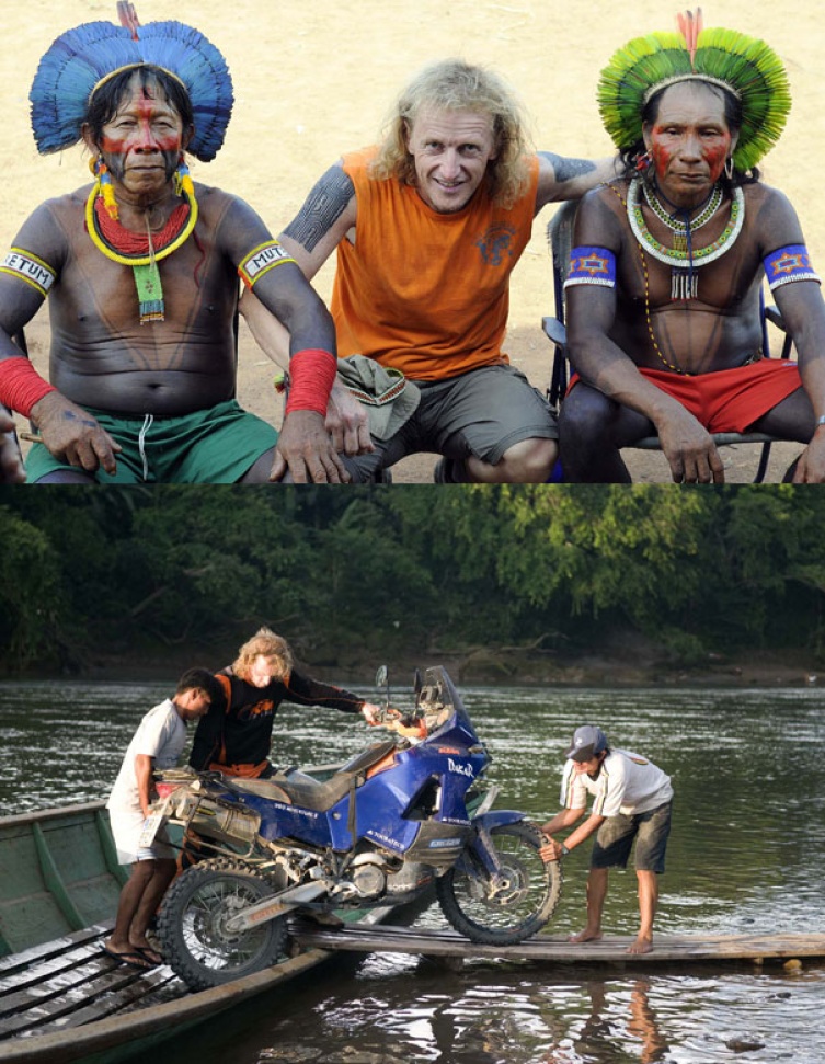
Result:
<instances>
[{"instance_id":1,"label":"seated man in green feather headdress and red shorts","mask_svg":"<svg viewBox=\"0 0 825 1064\"><path fill-rule=\"evenodd\" d=\"M794 481L825 481L825 302L797 215L759 181L790 93L761 41L702 30L631 41L601 72L599 108L625 173L580 207L566 281L576 375L565 479L623 482L620 448L652 433L677 482L722 483L712 433L807 444ZM767 279L799 363L764 357Z\"/></svg>"}]
</instances>

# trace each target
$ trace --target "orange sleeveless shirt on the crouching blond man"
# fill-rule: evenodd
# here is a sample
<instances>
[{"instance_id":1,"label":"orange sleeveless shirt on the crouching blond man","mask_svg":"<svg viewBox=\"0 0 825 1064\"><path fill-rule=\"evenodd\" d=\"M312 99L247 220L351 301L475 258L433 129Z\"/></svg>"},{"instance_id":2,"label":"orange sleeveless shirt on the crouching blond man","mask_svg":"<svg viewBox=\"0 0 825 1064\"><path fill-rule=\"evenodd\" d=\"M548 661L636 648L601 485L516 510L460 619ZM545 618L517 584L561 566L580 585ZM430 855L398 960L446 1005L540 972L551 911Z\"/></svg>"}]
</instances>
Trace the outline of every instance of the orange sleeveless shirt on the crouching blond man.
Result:
<instances>
[{"instance_id":1,"label":"orange sleeveless shirt on the crouching blond man","mask_svg":"<svg viewBox=\"0 0 825 1064\"><path fill-rule=\"evenodd\" d=\"M462 210L443 215L394 178L373 180L375 155L344 157L358 217L355 244L337 248L339 357L368 355L414 380L508 362L509 275L532 230L538 159L513 207L493 205L482 185Z\"/></svg>"}]
</instances>

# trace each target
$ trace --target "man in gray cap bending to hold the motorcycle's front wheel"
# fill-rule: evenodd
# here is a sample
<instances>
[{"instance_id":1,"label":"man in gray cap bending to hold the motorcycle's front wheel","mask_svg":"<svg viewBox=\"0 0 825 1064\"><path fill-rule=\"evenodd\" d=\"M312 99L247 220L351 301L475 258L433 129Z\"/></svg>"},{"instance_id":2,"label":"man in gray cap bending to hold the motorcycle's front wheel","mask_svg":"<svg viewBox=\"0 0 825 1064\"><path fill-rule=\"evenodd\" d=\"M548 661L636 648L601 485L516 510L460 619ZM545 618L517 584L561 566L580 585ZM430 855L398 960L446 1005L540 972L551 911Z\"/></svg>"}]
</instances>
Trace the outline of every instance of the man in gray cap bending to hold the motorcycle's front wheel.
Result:
<instances>
[{"instance_id":1,"label":"man in gray cap bending to hold the motorcycle's front wheel","mask_svg":"<svg viewBox=\"0 0 825 1064\"><path fill-rule=\"evenodd\" d=\"M570 941L593 942L601 938L608 869L627 867L635 839L641 923L628 952L648 953L653 949L657 877L665 870L665 849L671 832L671 777L646 757L626 750L611 750L605 733L594 724L583 724L575 730L564 756L561 782L564 809L543 825L548 842L540 854L545 860L558 860L597 833L587 877L587 925L583 931L571 935ZM588 793L593 796L593 809L587 820L563 843L553 839L552 835L572 827L582 817Z\"/></svg>"}]
</instances>

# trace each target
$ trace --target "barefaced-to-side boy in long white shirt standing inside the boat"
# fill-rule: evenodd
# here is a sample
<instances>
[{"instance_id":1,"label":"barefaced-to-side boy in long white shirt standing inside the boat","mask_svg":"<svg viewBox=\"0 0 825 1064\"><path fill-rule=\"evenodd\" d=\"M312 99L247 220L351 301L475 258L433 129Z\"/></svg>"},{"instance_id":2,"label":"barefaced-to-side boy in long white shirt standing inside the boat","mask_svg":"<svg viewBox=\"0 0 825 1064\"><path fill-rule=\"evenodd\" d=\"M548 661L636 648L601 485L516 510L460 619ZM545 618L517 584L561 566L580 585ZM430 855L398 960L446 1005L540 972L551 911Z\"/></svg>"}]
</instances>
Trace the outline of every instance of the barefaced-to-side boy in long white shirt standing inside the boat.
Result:
<instances>
[{"instance_id":1,"label":"barefaced-to-side boy in long white shirt standing inside the boat","mask_svg":"<svg viewBox=\"0 0 825 1064\"><path fill-rule=\"evenodd\" d=\"M206 668L190 668L181 676L172 698L150 709L126 751L106 802L112 834L122 865L131 874L121 891L117 916L103 950L121 964L150 969L161 962L146 929L175 873L175 853L164 832L150 846L140 834L154 794L156 768L173 768L186 743L186 724L203 717L213 698L221 697L215 676Z\"/></svg>"}]
</instances>

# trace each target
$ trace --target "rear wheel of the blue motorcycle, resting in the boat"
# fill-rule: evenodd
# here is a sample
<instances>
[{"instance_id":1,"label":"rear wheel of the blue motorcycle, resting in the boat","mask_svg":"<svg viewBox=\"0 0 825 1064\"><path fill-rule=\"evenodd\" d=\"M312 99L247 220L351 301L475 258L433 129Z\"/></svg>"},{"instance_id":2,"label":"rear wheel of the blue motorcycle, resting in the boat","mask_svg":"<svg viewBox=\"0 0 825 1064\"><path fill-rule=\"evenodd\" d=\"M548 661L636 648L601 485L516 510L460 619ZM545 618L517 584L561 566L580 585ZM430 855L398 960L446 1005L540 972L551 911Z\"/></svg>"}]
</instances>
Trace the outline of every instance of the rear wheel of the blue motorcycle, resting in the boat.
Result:
<instances>
[{"instance_id":1,"label":"rear wheel of the blue motorcycle, resting in the boat","mask_svg":"<svg viewBox=\"0 0 825 1064\"><path fill-rule=\"evenodd\" d=\"M200 861L169 889L158 916L163 958L192 989L203 991L263 971L286 943L286 920L277 917L247 931L227 922L274 893L262 876L236 861Z\"/></svg>"}]
</instances>

